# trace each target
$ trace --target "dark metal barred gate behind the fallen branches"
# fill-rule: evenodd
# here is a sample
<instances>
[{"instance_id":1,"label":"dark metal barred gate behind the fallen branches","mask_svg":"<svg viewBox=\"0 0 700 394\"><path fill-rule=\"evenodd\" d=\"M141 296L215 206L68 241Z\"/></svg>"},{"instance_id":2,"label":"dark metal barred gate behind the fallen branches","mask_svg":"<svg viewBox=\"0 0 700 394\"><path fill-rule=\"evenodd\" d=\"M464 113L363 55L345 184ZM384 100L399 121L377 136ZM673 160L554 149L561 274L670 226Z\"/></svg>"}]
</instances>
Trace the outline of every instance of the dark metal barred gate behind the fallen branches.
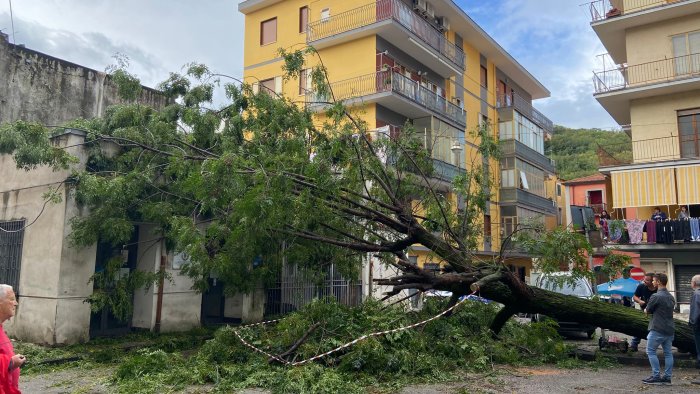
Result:
<instances>
[{"instance_id":1,"label":"dark metal barred gate behind the fallen branches","mask_svg":"<svg viewBox=\"0 0 700 394\"><path fill-rule=\"evenodd\" d=\"M285 265L278 280L265 290L266 317L294 312L317 298L348 306L362 303L362 282L344 278L332 264L321 280L296 265Z\"/></svg>"}]
</instances>

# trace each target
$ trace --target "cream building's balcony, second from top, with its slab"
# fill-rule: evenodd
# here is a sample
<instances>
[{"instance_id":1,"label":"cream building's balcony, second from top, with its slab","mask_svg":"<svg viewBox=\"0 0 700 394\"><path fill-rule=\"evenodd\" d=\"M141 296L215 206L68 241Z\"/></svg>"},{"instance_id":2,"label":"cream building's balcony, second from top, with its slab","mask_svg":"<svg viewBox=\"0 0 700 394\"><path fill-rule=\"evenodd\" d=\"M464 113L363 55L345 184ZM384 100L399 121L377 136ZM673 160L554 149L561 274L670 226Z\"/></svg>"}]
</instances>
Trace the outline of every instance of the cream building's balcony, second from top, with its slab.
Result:
<instances>
[{"instance_id":1,"label":"cream building's balcony, second from top, with its slab","mask_svg":"<svg viewBox=\"0 0 700 394\"><path fill-rule=\"evenodd\" d=\"M631 100L700 89L700 53L594 72L593 87L613 119L629 124Z\"/></svg>"}]
</instances>

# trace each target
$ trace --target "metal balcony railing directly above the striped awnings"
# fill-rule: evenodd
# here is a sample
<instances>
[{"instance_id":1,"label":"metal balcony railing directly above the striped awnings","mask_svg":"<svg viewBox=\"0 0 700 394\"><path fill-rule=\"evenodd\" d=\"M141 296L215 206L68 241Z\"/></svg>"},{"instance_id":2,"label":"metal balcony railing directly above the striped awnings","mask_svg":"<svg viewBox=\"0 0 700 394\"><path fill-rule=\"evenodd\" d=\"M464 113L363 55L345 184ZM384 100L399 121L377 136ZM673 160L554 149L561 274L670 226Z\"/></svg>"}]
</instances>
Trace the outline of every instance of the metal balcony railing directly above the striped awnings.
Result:
<instances>
[{"instance_id":1,"label":"metal balcony railing directly above the striped awnings","mask_svg":"<svg viewBox=\"0 0 700 394\"><path fill-rule=\"evenodd\" d=\"M696 136L688 136L696 137ZM651 138L646 140L631 141L629 143L598 145L598 161L601 166L615 166L632 163L645 163L662 160L693 159L700 157L699 140L697 138L681 140L677 135L668 137ZM622 155L620 152L629 152L632 147L632 155Z\"/></svg>"}]
</instances>

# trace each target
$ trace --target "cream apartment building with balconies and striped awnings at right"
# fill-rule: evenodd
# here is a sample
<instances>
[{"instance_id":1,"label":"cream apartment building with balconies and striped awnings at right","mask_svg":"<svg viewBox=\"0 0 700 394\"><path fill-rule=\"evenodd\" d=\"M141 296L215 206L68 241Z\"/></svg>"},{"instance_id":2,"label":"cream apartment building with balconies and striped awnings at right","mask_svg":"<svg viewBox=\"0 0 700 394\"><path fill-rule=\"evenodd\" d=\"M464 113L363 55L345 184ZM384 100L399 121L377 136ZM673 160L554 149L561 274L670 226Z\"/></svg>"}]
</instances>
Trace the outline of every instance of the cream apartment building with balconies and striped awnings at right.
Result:
<instances>
[{"instance_id":1,"label":"cream apartment building with balconies and striped awnings at right","mask_svg":"<svg viewBox=\"0 0 700 394\"><path fill-rule=\"evenodd\" d=\"M604 155L601 163L612 208L628 220L648 220L654 207L671 219L682 206L700 217L700 1L598 0L590 11L608 51L594 97L632 139L632 160ZM617 247L639 252L645 270L667 273L670 290L688 303L700 243L692 231L653 238L646 231Z\"/></svg>"}]
</instances>

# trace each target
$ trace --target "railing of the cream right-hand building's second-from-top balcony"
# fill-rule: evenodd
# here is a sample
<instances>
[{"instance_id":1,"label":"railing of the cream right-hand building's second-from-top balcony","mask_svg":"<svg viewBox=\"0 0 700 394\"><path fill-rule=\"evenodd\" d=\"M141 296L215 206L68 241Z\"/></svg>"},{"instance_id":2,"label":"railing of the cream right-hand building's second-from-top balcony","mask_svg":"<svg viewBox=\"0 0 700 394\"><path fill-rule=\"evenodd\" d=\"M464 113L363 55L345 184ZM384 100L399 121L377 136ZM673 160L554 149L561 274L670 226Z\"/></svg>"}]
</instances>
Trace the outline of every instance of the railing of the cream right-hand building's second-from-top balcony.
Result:
<instances>
[{"instance_id":1,"label":"railing of the cream right-hand building's second-from-top balcony","mask_svg":"<svg viewBox=\"0 0 700 394\"><path fill-rule=\"evenodd\" d=\"M700 77L700 53L593 73L596 93Z\"/></svg>"}]
</instances>

